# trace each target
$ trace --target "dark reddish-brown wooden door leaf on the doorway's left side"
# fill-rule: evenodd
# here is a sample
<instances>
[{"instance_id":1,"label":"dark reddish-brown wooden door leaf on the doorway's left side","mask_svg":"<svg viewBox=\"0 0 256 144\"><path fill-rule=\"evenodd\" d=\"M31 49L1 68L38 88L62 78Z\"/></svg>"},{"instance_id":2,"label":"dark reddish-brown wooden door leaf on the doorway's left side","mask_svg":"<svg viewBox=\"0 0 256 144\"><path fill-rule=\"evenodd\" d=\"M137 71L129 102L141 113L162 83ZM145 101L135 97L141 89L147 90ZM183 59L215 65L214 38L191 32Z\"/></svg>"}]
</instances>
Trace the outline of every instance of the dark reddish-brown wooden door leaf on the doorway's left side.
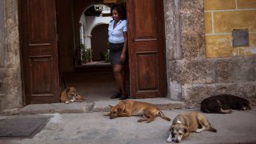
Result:
<instances>
[{"instance_id":1,"label":"dark reddish-brown wooden door leaf on the doorway's left side","mask_svg":"<svg viewBox=\"0 0 256 144\"><path fill-rule=\"evenodd\" d=\"M59 102L54 0L20 0L26 104Z\"/></svg>"}]
</instances>

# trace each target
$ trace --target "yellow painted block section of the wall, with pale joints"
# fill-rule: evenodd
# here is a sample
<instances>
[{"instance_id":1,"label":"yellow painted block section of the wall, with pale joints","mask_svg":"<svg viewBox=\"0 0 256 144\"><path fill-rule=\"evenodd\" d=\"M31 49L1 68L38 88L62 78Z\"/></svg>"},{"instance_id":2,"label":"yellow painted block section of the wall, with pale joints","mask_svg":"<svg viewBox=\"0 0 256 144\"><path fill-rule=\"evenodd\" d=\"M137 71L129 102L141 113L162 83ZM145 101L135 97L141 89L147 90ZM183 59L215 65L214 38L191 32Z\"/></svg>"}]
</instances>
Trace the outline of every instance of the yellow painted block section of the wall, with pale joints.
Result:
<instances>
[{"instance_id":1,"label":"yellow painted block section of the wall, with pale joints","mask_svg":"<svg viewBox=\"0 0 256 144\"><path fill-rule=\"evenodd\" d=\"M206 57L256 55L256 0L205 0ZM232 31L248 29L249 46L233 46Z\"/></svg>"}]
</instances>

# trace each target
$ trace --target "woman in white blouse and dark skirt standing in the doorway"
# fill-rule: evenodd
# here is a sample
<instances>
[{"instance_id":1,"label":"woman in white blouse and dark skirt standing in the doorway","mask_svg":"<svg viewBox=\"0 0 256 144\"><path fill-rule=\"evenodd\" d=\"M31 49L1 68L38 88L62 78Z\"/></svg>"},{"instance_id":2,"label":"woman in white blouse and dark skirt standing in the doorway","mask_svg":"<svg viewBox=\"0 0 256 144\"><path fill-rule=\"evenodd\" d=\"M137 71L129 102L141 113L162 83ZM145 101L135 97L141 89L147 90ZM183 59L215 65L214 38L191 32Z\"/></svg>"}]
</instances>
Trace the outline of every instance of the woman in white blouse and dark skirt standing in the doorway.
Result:
<instances>
[{"instance_id":1,"label":"woman in white blouse and dark skirt standing in the doorway","mask_svg":"<svg viewBox=\"0 0 256 144\"><path fill-rule=\"evenodd\" d=\"M111 7L113 20L110 21L108 34L110 45L110 63L113 68L117 92L110 98L128 98L124 68L128 63L127 56L127 22L126 10L122 5Z\"/></svg>"}]
</instances>

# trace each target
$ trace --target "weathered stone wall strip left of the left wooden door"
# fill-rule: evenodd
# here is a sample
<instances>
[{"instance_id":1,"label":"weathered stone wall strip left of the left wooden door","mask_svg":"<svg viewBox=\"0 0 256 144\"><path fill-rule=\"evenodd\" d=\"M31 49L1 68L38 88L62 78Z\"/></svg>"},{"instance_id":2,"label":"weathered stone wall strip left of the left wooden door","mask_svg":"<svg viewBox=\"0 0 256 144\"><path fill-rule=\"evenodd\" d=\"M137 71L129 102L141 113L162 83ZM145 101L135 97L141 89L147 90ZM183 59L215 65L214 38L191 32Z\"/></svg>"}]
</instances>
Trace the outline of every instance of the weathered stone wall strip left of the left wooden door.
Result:
<instances>
[{"instance_id":1,"label":"weathered stone wall strip left of the left wooden door","mask_svg":"<svg viewBox=\"0 0 256 144\"><path fill-rule=\"evenodd\" d=\"M0 112L14 112L22 106L18 0L0 2L0 37Z\"/></svg>"}]
</instances>

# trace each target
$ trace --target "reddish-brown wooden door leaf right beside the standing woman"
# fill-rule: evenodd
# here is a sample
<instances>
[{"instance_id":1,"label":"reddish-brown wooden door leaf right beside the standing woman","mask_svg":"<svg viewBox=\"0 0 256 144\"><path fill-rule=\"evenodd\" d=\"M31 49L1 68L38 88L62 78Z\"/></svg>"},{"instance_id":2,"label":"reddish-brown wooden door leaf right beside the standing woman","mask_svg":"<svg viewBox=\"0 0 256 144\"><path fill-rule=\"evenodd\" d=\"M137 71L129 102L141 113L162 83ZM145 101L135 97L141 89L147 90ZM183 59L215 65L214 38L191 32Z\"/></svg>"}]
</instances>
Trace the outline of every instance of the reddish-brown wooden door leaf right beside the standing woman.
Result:
<instances>
[{"instance_id":1,"label":"reddish-brown wooden door leaf right beside the standing woman","mask_svg":"<svg viewBox=\"0 0 256 144\"><path fill-rule=\"evenodd\" d=\"M162 0L127 0L131 98L166 97Z\"/></svg>"}]
</instances>

